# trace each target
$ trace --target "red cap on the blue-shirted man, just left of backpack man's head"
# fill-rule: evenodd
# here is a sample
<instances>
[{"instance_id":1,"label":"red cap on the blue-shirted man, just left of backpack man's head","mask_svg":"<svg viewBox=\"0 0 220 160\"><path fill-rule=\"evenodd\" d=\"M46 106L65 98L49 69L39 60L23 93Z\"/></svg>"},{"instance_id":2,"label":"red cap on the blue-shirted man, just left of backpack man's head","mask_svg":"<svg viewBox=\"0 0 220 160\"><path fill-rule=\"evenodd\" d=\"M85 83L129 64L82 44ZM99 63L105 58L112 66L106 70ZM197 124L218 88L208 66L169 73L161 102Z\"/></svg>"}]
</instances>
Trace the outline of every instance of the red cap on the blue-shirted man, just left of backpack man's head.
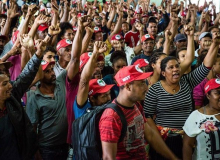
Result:
<instances>
[{"instance_id":1,"label":"red cap on the blue-shirted man, just left of backpack man's head","mask_svg":"<svg viewBox=\"0 0 220 160\"><path fill-rule=\"evenodd\" d=\"M93 96L96 93L106 93L113 85L106 85L102 79L91 79L89 81L89 96Z\"/></svg>"}]
</instances>

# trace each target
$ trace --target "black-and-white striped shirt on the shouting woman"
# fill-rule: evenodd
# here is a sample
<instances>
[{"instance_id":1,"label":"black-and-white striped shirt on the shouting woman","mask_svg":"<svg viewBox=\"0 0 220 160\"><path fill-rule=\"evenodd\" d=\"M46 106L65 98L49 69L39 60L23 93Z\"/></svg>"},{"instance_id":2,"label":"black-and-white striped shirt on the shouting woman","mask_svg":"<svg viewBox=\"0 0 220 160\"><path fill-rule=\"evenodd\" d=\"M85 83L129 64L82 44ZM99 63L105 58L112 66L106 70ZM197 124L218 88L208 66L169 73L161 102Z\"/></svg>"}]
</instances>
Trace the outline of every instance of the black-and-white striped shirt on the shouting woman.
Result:
<instances>
[{"instance_id":1,"label":"black-and-white striped shirt on the shouting woman","mask_svg":"<svg viewBox=\"0 0 220 160\"><path fill-rule=\"evenodd\" d=\"M182 129L192 111L192 89L209 73L203 64L180 79L180 90L170 94L157 82L149 89L145 101L145 116L156 114L155 123L163 127Z\"/></svg>"}]
</instances>

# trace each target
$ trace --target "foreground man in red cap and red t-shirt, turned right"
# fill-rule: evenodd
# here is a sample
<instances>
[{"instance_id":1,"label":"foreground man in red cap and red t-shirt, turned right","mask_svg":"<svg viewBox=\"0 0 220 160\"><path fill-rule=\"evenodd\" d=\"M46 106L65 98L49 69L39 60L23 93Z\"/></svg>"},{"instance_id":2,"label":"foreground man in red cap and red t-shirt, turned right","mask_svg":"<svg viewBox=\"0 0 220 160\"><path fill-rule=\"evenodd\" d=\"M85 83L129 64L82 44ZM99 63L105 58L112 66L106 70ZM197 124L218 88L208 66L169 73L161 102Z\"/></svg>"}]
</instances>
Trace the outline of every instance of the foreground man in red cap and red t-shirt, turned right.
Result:
<instances>
[{"instance_id":1,"label":"foreground man in red cap and red t-shirt, turned right","mask_svg":"<svg viewBox=\"0 0 220 160\"><path fill-rule=\"evenodd\" d=\"M145 140L167 159L177 157L165 145L161 136L146 123L143 107L138 101L144 100L148 87L146 79L152 72L143 73L136 65L122 68L115 75L119 95L113 101L123 112L127 121L127 133L119 142L122 123L111 108L105 109L99 121L103 159L146 160Z\"/></svg>"}]
</instances>

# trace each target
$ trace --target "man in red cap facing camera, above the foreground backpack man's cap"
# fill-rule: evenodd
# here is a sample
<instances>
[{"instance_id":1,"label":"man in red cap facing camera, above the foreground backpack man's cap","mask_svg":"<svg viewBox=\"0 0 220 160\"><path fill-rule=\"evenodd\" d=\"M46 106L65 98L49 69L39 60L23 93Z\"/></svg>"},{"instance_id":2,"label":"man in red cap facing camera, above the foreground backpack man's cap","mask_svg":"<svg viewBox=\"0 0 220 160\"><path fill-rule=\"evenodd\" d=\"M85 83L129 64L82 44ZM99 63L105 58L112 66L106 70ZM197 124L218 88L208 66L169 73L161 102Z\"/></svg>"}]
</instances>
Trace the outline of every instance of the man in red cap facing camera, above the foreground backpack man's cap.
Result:
<instances>
[{"instance_id":1,"label":"man in red cap facing camera, above the foreground backpack man's cap","mask_svg":"<svg viewBox=\"0 0 220 160\"><path fill-rule=\"evenodd\" d=\"M141 46L142 46L142 54L135 56L132 59L131 64L134 64L134 62L138 59L146 59L147 61L150 61L150 57L153 53L154 50L154 37L149 34L145 34L144 36L141 37Z\"/></svg>"}]
</instances>

